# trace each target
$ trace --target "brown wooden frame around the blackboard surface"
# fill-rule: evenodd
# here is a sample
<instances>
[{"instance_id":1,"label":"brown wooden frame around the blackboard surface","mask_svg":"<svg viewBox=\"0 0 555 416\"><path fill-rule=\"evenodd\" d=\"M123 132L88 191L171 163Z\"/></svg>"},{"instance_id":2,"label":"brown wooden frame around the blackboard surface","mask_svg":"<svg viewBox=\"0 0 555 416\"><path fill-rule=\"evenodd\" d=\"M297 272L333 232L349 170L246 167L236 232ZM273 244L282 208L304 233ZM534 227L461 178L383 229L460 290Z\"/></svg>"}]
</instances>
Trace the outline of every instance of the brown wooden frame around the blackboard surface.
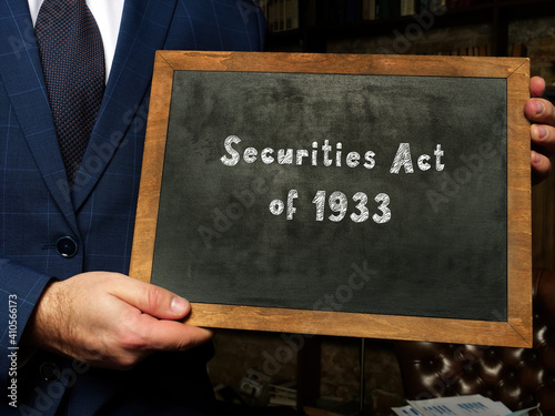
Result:
<instances>
[{"instance_id":1,"label":"brown wooden frame around the blackboard surface","mask_svg":"<svg viewBox=\"0 0 555 416\"><path fill-rule=\"evenodd\" d=\"M389 74L507 80L507 319L482 322L193 303L198 326L334 336L532 346L529 61L524 58L159 51L130 275L150 282L174 71Z\"/></svg>"}]
</instances>

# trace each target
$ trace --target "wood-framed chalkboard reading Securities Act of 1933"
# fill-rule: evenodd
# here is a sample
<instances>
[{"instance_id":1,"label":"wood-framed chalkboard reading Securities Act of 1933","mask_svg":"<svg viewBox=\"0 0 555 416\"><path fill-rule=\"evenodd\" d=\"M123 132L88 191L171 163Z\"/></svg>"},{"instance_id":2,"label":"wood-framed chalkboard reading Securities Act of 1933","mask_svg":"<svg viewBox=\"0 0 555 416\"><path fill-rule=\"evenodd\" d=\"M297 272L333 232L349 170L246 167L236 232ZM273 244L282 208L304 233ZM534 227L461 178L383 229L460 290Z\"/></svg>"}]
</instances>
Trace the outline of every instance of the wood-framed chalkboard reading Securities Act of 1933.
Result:
<instances>
[{"instance_id":1,"label":"wood-framed chalkboard reading Securities Act of 1933","mask_svg":"<svg viewBox=\"0 0 555 416\"><path fill-rule=\"evenodd\" d=\"M524 59L162 52L132 275L196 325L529 345L527 78Z\"/></svg>"}]
</instances>

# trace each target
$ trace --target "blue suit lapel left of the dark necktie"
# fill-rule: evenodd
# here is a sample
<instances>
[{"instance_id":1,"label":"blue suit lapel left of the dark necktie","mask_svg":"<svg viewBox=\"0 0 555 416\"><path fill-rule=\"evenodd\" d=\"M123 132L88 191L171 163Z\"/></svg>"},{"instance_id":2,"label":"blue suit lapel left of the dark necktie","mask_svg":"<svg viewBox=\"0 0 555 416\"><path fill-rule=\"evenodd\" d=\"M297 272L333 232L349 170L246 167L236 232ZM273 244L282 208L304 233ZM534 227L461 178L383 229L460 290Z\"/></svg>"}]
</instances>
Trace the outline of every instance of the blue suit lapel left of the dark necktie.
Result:
<instances>
[{"instance_id":1,"label":"blue suit lapel left of the dark necktie","mask_svg":"<svg viewBox=\"0 0 555 416\"><path fill-rule=\"evenodd\" d=\"M37 166L77 231L29 7L23 0L0 0L0 77Z\"/></svg>"}]
</instances>

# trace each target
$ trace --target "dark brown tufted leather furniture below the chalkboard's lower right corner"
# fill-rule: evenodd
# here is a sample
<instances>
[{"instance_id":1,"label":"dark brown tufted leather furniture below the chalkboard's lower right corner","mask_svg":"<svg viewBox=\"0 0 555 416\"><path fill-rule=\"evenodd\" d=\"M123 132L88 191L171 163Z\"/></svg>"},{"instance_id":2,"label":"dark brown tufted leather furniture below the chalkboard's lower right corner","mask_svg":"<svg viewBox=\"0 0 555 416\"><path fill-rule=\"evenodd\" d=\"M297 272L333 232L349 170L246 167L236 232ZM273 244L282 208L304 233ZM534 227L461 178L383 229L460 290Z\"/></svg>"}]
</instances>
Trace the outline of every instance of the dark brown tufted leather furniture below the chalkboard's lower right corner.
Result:
<instances>
[{"instance_id":1,"label":"dark brown tufted leather furniture below the chalkboard's lower right corner","mask_svg":"<svg viewBox=\"0 0 555 416\"><path fill-rule=\"evenodd\" d=\"M533 348L397 342L405 396L482 394L555 415L555 272L534 272Z\"/></svg>"}]
</instances>

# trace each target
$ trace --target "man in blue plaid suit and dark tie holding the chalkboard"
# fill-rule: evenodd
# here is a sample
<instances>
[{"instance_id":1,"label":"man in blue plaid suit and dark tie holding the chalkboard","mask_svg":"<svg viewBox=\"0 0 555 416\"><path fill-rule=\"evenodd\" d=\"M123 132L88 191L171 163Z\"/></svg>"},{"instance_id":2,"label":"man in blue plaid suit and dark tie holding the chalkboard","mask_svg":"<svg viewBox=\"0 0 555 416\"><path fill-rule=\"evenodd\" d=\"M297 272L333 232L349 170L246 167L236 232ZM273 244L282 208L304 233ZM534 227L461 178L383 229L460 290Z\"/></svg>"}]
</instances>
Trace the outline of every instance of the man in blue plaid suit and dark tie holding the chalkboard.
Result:
<instances>
[{"instance_id":1,"label":"man in blue plaid suit and dark tie holding the chalkboard","mask_svg":"<svg viewBox=\"0 0 555 416\"><path fill-rule=\"evenodd\" d=\"M124 275L149 88L157 50L260 50L263 17L246 0L68 1L0 0L0 414L210 414L211 352L194 347L211 333L176 322L186 301ZM57 29L65 7L103 57L60 75L54 61L78 53ZM97 60L105 91L85 153L67 162L58 139L77 115L60 126L56 93Z\"/></svg>"}]
</instances>

